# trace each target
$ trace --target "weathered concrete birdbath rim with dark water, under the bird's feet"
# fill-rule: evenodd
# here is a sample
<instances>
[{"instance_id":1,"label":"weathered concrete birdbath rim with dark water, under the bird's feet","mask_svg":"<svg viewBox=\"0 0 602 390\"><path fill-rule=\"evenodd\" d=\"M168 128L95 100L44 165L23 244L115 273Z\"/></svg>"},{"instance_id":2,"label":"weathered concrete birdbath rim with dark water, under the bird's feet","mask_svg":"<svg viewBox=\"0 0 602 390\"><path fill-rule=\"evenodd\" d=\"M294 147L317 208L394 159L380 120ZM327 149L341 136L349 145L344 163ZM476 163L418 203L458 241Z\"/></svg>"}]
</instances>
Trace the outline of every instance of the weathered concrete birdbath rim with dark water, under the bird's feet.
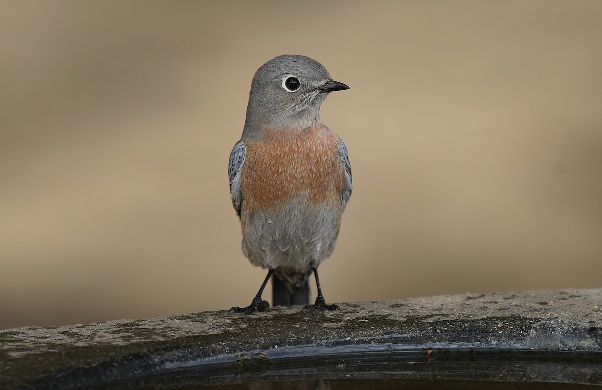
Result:
<instances>
[{"instance_id":1,"label":"weathered concrete birdbath rim with dark water, under the bird's feet","mask_svg":"<svg viewBox=\"0 0 602 390\"><path fill-rule=\"evenodd\" d=\"M602 384L602 289L340 306L315 315L276 307L0 330L0 389L173 388L385 372Z\"/></svg>"}]
</instances>

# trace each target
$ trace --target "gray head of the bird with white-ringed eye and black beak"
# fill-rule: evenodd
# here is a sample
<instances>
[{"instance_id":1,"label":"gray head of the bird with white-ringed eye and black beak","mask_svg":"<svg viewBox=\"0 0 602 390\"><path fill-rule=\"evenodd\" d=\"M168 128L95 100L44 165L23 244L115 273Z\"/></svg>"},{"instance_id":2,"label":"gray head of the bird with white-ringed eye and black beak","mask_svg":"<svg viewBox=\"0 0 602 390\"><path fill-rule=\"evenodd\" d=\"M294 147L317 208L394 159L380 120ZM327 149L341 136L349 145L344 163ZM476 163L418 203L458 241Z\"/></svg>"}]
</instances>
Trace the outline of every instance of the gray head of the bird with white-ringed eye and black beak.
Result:
<instances>
[{"instance_id":1,"label":"gray head of the bird with white-ringed eye and black beak","mask_svg":"<svg viewBox=\"0 0 602 390\"><path fill-rule=\"evenodd\" d=\"M318 61L280 55L263 64L253 77L243 134L258 134L265 125L306 128L320 121L320 105L328 93L346 89Z\"/></svg>"}]
</instances>

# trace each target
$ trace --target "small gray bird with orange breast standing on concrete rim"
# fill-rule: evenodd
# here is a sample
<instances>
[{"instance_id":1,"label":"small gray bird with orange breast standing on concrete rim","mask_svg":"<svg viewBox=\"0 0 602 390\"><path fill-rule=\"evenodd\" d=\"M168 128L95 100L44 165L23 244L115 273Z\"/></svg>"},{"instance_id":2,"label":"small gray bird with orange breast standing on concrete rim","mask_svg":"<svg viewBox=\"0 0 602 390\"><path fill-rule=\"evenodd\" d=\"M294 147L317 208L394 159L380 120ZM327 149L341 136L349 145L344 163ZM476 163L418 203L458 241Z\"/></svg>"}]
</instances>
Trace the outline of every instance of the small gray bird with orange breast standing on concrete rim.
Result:
<instances>
[{"instance_id":1,"label":"small gray bird with orange breast standing on concrete rim","mask_svg":"<svg viewBox=\"0 0 602 390\"><path fill-rule=\"evenodd\" d=\"M303 55L279 55L253 76L228 176L243 253L268 273L251 304L228 313L267 312L261 296L270 277L274 306L305 305L312 314L341 310L324 300L318 266L337 243L352 172L347 147L320 120L320 106L329 93L347 89ZM310 305L312 273L317 297Z\"/></svg>"}]
</instances>

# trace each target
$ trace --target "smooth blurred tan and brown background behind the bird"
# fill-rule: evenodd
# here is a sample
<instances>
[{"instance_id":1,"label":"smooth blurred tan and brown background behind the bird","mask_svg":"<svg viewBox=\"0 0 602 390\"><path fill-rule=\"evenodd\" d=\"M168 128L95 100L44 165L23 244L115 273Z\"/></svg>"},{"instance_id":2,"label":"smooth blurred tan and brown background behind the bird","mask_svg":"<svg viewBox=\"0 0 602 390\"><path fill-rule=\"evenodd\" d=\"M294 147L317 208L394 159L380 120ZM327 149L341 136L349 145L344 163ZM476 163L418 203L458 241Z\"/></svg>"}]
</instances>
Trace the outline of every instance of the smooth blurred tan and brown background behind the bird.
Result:
<instances>
[{"instance_id":1,"label":"smooth blurred tan and brown background behind the bird","mask_svg":"<svg viewBox=\"0 0 602 390\"><path fill-rule=\"evenodd\" d=\"M3 1L0 53L0 328L248 305L228 156L284 53L351 87L328 302L602 286L600 1Z\"/></svg>"}]
</instances>

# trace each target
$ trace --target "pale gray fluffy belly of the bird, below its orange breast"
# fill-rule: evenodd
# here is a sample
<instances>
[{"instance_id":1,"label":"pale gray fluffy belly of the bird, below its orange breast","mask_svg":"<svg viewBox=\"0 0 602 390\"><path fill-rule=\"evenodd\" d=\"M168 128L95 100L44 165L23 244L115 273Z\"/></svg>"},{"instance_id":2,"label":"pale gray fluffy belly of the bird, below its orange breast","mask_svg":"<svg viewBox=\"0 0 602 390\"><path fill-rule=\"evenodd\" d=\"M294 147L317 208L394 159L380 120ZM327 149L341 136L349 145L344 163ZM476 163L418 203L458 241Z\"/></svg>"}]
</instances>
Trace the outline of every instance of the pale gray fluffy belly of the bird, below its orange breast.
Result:
<instances>
[{"instance_id":1,"label":"pale gray fluffy belly of the bird, below its orange breast","mask_svg":"<svg viewBox=\"0 0 602 390\"><path fill-rule=\"evenodd\" d=\"M255 212L244 228L243 253L253 265L283 276L308 273L332 254L340 221L337 208L321 206Z\"/></svg>"}]
</instances>

